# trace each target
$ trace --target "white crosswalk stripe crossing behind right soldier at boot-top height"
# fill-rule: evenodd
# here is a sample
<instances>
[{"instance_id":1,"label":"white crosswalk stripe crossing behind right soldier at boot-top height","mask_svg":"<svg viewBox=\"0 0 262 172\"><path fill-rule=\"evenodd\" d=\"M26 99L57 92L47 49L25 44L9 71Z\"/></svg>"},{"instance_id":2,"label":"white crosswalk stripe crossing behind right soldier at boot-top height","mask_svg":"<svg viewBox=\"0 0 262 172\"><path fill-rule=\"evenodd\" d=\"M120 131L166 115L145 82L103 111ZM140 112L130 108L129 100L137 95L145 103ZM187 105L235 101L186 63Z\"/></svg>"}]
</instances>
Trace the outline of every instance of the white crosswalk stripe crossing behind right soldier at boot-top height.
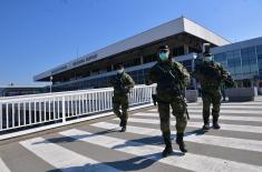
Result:
<instances>
[{"instance_id":1,"label":"white crosswalk stripe crossing behind right soldier at boot-top height","mask_svg":"<svg viewBox=\"0 0 262 172\"><path fill-rule=\"evenodd\" d=\"M136 117L159 117L158 113L134 113L132 115ZM201 114L190 114L191 119L203 119ZM262 115L261 117L235 117L235 115L221 115L221 120L227 120L227 121L251 121L251 122L262 122Z\"/></svg>"}]
</instances>

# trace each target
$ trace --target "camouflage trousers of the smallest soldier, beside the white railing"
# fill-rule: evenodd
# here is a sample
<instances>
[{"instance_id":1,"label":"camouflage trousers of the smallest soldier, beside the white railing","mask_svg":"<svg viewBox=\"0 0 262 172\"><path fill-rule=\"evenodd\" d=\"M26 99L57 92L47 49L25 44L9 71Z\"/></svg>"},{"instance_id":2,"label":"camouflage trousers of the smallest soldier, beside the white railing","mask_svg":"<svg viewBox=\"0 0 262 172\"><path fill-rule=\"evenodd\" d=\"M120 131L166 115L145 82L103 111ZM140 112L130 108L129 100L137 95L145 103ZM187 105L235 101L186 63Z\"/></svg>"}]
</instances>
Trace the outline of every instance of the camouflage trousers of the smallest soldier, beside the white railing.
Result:
<instances>
[{"instance_id":1,"label":"camouflage trousers of the smallest soldier, beside the white railing","mask_svg":"<svg viewBox=\"0 0 262 172\"><path fill-rule=\"evenodd\" d=\"M122 112L120 112L120 108L122 108ZM119 119L123 119L123 120L127 121L127 119L128 119L127 109L128 109L128 97L127 97L127 94L125 94L125 93L114 94L114 97L113 97L113 111L114 111L114 113Z\"/></svg>"}]
</instances>

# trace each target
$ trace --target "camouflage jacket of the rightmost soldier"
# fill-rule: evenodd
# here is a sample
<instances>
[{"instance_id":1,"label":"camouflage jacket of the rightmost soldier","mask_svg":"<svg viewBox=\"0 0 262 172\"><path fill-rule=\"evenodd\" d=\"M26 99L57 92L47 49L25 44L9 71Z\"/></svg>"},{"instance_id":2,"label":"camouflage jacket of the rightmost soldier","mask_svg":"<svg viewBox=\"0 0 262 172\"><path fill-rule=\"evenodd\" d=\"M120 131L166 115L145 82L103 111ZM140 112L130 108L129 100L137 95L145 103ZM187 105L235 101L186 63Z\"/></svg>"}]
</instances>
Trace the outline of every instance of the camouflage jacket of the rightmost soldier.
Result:
<instances>
[{"instance_id":1,"label":"camouflage jacket of the rightmost soldier","mask_svg":"<svg viewBox=\"0 0 262 172\"><path fill-rule=\"evenodd\" d=\"M214 61L197 61L195 70L192 75L201 83L203 91L219 90L221 83L226 79L229 72L224 68Z\"/></svg>"}]
</instances>

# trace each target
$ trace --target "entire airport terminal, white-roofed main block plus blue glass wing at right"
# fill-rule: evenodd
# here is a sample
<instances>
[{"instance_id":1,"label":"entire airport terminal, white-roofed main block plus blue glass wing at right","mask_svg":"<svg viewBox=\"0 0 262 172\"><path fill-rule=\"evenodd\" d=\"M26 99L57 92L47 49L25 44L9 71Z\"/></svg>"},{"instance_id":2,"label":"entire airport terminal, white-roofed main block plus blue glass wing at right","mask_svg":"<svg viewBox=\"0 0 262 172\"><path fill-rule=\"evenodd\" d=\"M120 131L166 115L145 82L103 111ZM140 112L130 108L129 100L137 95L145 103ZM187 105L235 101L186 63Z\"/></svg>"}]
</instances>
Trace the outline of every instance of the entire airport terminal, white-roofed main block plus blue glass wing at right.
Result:
<instances>
[{"instance_id":1,"label":"entire airport terminal, white-roofed main block plus blue glass wing at right","mask_svg":"<svg viewBox=\"0 0 262 172\"><path fill-rule=\"evenodd\" d=\"M258 85L262 80L262 38L231 43L186 18L178 18L40 73L35 81L51 81L54 91L105 88L116 74L116 65L124 63L135 82L143 84L148 69L156 63L161 44L168 44L173 58L192 71L204 42L211 43L214 60L232 73L237 87ZM195 82L190 88L196 88Z\"/></svg>"}]
</instances>

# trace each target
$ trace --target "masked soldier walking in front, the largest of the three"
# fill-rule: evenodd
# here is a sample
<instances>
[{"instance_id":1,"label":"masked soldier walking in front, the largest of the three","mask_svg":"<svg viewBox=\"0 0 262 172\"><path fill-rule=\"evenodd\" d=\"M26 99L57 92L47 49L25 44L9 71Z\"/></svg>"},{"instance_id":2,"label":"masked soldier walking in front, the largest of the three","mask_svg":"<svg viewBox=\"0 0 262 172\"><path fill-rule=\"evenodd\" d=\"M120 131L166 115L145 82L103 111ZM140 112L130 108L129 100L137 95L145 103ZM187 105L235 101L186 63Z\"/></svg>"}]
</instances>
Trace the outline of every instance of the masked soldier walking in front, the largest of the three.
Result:
<instances>
[{"instance_id":1,"label":"masked soldier walking in front, the largest of the three","mask_svg":"<svg viewBox=\"0 0 262 172\"><path fill-rule=\"evenodd\" d=\"M176 118L176 143L182 152L187 152L183 138L186 128L186 103L182 98L182 91L190 81L190 74L178 62L172 62L168 45L161 45L158 49L158 61L149 70L146 84L157 83L156 99L161 119L161 131L165 143L162 156L171 155L173 152L169 129L169 107Z\"/></svg>"}]
</instances>

